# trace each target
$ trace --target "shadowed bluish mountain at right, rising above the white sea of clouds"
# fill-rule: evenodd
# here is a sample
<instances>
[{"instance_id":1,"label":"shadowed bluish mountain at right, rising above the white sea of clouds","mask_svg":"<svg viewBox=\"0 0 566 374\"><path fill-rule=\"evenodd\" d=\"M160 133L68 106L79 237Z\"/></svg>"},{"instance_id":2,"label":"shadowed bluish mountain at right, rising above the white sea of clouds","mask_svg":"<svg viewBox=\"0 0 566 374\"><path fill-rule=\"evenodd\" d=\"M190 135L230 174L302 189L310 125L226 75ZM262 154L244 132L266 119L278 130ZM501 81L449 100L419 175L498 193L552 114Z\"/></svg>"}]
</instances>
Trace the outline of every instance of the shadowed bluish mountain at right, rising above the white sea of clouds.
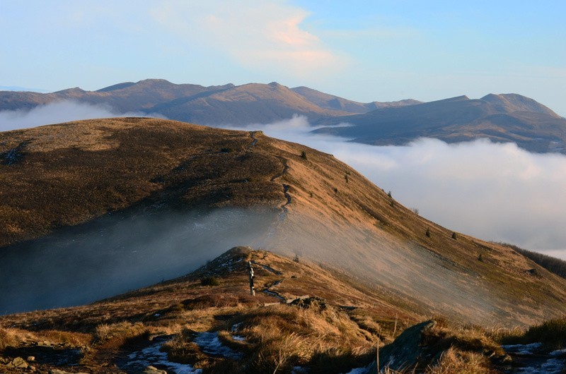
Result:
<instances>
[{"instance_id":1,"label":"shadowed bluish mountain at right, rising above the white sea of clouds","mask_svg":"<svg viewBox=\"0 0 566 374\"><path fill-rule=\"evenodd\" d=\"M516 94L490 94L481 99L453 97L318 122L321 126L340 123L354 126L321 128L317 132L374 145L403 145L417 138L437 138L447 143L488 138L497 143L516 143L531 152L566 153L566 119Z\"/></svg>"}]
</instances>

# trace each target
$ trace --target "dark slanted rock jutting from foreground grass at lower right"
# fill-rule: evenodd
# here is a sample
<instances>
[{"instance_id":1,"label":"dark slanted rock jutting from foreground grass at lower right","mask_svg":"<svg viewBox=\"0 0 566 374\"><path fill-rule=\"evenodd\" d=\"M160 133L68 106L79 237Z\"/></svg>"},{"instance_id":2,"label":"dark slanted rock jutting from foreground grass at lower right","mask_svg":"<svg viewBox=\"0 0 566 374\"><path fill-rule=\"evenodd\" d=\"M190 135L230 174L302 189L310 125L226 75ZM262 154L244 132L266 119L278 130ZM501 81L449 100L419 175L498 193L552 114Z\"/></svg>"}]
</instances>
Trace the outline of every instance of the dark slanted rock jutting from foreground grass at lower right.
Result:
<instances>
[{"instance_id":1,"label":"dark slanted rock jutting from foreground grass at lower right","mask_svg":"<svg viewBox=\"0 0 566 374\"><path fill-rule=\"evenodd\" d=\"M420 346L422 333L431 329L436 324L437 322L429 320L409 327L407 330L403 331L393 343L387 344L382 349L379 349L380 369L389 368L391 370L403 371L415 367L420 356L423 354ZM372 363L367 373L376 373L376 366L376 362Z\"/></svg>"}]
</instances>

